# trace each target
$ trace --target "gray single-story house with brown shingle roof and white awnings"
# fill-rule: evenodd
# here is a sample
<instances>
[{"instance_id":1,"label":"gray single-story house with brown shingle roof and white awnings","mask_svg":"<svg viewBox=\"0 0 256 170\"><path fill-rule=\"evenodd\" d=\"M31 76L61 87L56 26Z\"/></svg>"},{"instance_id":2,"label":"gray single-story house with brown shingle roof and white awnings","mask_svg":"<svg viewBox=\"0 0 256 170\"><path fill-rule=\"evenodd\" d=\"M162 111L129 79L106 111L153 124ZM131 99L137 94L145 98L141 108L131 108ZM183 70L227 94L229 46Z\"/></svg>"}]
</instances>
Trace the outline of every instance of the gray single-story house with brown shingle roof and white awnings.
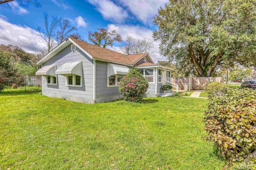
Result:
<instances>
[{"instance_id":1,"label":"gray single-story house with brown shingle roof and white awnings","mask_svg":"<svg viewBox=\"0 0 256 170\"><path fill-rule=\"evenodd\" d=\"M66 100L95 103L122 98L118 84L129 69L148 80L148 97L160 94L170 82L172 68L155 64L148 53L125 55L68 37L37 64L42 94Z\"/></svg>"}]
</instances>

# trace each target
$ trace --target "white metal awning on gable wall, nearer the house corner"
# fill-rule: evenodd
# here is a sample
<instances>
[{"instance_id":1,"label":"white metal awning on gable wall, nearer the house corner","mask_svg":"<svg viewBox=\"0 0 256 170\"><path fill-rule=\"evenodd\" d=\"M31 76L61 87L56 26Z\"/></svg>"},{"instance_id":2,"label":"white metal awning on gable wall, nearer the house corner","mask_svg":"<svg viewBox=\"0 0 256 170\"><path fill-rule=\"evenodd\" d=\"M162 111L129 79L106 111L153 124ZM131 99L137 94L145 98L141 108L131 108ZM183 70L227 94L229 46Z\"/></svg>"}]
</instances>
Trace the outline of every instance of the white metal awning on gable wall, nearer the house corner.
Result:
<instances>
[{"instance_id":1,"label":"white metal awning on gable wall, nearer the house corner","mask_svg":"<svg viewBox=\"0 0 256 170\"><path fill-rule=\"evenodd\" d=\"M82 77L82 61L65 63L56 70L56 74L76 74Z\"/></svg>"}]
</instances>

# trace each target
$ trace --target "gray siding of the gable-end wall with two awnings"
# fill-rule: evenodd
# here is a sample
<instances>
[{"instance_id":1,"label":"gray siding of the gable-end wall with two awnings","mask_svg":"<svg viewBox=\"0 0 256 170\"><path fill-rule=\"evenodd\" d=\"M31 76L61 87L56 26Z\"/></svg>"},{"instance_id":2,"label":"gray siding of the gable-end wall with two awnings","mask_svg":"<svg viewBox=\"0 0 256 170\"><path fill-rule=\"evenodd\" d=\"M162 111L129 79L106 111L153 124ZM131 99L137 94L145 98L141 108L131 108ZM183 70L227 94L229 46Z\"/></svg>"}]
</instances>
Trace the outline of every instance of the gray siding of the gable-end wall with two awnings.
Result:
<instances>
[{"instance_id":1,"label":"gray siding of the gable-end wall with two awnings","mask_svg":"<svg viewBox=\"0 0 256 170\"><path fill-rule=\"evenodd\" d=\"M57 75L57 86L46 85L46 78L42 76L42 91L84 98L93 98L93 60L79 48L71 51L71 45L52 57L43 66L57 64L57 68L69 62L82 61L82 87L66 86L66 77Z\"/></svg>"}]
</instances>

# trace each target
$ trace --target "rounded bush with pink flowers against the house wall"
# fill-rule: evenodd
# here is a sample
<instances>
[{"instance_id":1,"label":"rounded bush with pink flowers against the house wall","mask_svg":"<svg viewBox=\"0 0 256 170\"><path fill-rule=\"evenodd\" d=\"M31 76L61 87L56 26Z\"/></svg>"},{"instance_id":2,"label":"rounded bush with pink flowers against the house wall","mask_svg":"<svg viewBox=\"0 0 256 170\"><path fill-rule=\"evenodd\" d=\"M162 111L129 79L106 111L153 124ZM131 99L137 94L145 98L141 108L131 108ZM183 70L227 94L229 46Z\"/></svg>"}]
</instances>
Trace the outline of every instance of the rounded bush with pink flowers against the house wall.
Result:
<instances>
[{"instance_id":1,"label":"rounded bush with pink flowers against the house wall","mask_svg":"<svg viewBox=\"0 0 256 170\"><path fill-rule=\"evenodd\" d=\"M124 100L140 102L148 90L148 81L137 69L132 69L120 80L119 92Z\"/></svg>"}]
</instances>

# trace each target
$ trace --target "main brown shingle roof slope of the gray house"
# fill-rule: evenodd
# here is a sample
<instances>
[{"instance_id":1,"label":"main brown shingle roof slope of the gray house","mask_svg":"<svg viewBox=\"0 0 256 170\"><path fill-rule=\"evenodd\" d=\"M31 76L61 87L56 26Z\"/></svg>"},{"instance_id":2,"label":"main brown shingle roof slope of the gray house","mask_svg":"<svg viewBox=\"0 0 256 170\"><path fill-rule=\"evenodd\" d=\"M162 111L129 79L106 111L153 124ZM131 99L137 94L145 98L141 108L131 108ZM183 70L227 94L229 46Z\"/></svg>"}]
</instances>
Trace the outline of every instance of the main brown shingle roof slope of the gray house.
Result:
<instances>
[{"instance_id":1,"label":"main brown shingle roof slope of the gray house","mask_svg":"<svg viewBox=\"0 0 256 170\"><path fill-rule=\"evenodd\" d=\"M102 47L98 47L96 45L86 43L84 41L79 41L74 38L70 38L70 39L72 39L72 41L74 41L77 45L79 45L82 49L84 49L84 51L88 52L92 57L96 57L96 58L104 59L108 61L117 61L120 63L134 64L138 59L146 55L146 53L136 54L136 55L125 55L122 53L118 53L116 51L112 51L110 49L105 49Z\"/></svg>"}]
</instances>

